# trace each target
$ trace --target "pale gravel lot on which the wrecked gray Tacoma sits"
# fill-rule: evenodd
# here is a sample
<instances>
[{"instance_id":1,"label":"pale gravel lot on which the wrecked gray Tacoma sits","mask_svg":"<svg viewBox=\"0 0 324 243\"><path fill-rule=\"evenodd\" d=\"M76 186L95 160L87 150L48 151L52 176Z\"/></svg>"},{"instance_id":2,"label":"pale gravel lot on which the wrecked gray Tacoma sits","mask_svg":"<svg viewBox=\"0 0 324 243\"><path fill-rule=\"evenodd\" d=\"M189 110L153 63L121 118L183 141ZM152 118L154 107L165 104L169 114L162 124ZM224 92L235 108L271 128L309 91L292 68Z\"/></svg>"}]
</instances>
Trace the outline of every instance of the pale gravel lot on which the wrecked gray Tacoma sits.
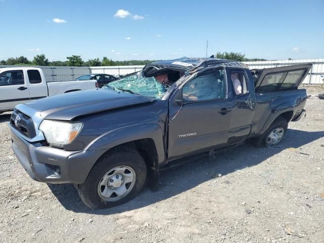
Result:
<instances>
[{"instance_id":1,"label":"pale gravel lot on which the wrecked gray Tacoma sits","mask_svg":"<svg viewBox=\"0 0 324 243\"><path fill-rule=\"evenodd\" d=\"M278 147L246 144L164 171L158 191L101 211L71 185L30 179L2 114L0 242L324 242L324 100L306 110Z\"/></svg>"}]
</instances>

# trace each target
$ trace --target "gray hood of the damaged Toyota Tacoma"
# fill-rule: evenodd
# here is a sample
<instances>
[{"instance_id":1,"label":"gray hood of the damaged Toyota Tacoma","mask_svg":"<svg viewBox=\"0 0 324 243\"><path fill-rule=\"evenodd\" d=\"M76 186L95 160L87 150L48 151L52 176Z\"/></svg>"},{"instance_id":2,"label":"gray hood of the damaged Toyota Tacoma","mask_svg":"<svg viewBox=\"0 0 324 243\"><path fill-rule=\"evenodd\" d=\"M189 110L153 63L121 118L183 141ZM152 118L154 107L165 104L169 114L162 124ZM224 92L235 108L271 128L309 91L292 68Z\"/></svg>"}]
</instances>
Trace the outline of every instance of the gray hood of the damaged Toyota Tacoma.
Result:
<instances>
[{"instance_id":1,"label":"gray hood of the damaged Toyota Tacoma","mask_svg":"<svg viewBox=\"0 0 324 243\"><path fill-rule=\"evenodd\" d=\"M48 97L24 105L36 111L42 118L71 120L80 115L150 103L154 100L126 92L94 89Z\"/></svg>"}]
</instances>

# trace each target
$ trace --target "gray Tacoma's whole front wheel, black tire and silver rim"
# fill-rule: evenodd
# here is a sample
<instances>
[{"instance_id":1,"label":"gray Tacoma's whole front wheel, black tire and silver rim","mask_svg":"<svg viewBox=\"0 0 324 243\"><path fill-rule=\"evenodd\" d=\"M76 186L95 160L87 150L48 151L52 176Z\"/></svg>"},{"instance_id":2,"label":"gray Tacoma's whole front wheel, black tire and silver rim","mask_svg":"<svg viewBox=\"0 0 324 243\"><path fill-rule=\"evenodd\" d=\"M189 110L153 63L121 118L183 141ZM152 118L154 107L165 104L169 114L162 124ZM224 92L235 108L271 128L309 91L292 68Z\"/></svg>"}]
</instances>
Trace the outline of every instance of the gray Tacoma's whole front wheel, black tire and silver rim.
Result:
<instances>
[{"instance_id":1,"label":"gray Tacoma's whole front wheel, black tire and silver rim","mask_svg":"<svg viewBox=\"0 0 324 243\"><path fill-rule=\"evenodd\" d=\"M136 197L145 184L146 174L142 156L133 148L121 146L98 159L86 181L78 186L78 193L91 209L112 208ZM127 181L132 182L124 183Z\"/></svg>"}]
</instances>

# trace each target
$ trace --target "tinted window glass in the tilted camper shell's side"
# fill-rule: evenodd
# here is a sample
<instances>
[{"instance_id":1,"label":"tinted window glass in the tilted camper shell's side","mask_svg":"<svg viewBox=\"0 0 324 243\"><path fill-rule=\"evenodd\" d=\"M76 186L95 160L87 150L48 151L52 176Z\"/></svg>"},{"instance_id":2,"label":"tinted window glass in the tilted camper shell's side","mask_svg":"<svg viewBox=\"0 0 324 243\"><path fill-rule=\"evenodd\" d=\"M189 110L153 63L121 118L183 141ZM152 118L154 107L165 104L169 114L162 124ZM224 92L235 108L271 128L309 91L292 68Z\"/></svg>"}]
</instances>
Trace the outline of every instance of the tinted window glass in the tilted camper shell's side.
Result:
<instances>
[{"instance_id":1,"label":"tinted window glass in the tilted camper shell's side","mask_svg":"<svg viewBox=\"0 0 324 243\"><path fill-rule=\"evenodd\" d=\"M300 79L304 75L305 70L296 70L291 72L272 73L264 76L258 92L271 92L297 87Z\"/></svg>"}]
</instances>

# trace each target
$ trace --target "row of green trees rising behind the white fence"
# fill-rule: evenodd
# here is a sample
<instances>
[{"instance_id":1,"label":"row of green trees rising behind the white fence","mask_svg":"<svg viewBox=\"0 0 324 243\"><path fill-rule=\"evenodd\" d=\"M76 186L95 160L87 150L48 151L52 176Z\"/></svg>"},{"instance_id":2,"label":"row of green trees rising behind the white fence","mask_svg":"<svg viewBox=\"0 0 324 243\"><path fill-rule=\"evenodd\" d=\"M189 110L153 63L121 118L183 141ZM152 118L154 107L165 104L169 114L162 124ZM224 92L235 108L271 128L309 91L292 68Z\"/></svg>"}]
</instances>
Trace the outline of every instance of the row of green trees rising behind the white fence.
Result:
<instances>
[{"instance_id":1,"label":"row of green trees rising behind the white fence","mask_svg":"<svg viewBox=\"0 0 324 243\"><path fill-rule=\"evenodd\" d=\"M236 52L223 52L216 53L216 58L223 58L235 61L267 61L260 58L246 58L245 54ZM66 61L52 61L46 58L45 54L39 54L33 57L32 61L24 56L10 57L7 60L0 61L0 65L35 65L35 66L74 66L74 67L95 67L95 66L128 66L128 65L145 65L155 62L157 60L130 60L130 61L113 61L107 57L89 59L88 61L82 60L81 56L72 55L66 57Z\"/></svg>"}]
</instances>

